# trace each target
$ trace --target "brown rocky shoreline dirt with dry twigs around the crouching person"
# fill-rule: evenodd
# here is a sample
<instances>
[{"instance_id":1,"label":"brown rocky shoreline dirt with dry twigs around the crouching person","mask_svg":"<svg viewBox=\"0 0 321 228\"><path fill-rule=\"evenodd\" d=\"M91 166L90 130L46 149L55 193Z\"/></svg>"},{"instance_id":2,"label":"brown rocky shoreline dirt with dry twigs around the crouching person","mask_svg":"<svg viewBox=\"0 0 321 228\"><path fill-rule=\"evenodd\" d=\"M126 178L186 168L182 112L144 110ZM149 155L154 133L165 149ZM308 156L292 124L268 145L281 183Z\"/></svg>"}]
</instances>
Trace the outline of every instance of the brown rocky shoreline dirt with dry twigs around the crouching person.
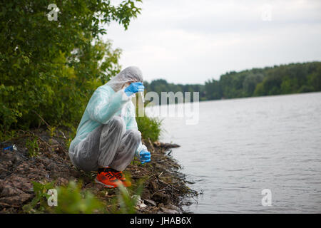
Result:
<instances>
[{"instance_id":1,"label":"brown rocky shoreline dirt with dry twigs around the crouching person","mask_svg":"<svg viewBox=\"0 0 321 228\"><path fill-rule=\"evenodd\" d=\"M49 133L39 128L20 130L16 138L1 142L0 213L25 213L22 207L35 197L31 181L43 184L56 181L56 186L66 186L69 181L81 180L83 190L90 190L98 199L106 202L107 207L111 206L108 204L117 197L117 189L106 189L94 183L96 172L77 170L68 157L67 141L61 130ZM28 142L36 145L34 157L29 155ZM185 175L179 172L180 165L170 157L171 150L168 149L178 145L150 140L143 143L151 152L151 162L141 165L136 159L125 170L133 185L138 180L144 180L136 212L184 213L183 205L190 204L190 199L198 193L187 187ZM16 145L17 150L3 150L10 145Z\"/></svg>"}]
</instances>

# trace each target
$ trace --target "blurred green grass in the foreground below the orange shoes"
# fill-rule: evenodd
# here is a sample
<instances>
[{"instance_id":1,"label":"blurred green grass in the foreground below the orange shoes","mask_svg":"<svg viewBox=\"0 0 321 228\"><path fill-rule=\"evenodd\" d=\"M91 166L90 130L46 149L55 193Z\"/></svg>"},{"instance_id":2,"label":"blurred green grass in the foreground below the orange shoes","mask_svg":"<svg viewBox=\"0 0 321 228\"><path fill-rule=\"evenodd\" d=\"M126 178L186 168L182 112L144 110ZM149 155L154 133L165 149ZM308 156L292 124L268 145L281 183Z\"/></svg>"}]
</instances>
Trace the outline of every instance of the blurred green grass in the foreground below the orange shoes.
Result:
<instances>
[{"instance_id":1,"label":"blurred green grass in the foreground below the orange shoes","mask_svg":"<svg viewBox=\"0 0 321 228\"><path fill-rule=\"evenodd\" d=\"M133 214L136 213L136 203L138 196L143 191L144 180L138 181L138 187L118 187L118 193L111 201L106 202L95 195L90 190L83 190L81 182L68 182L67 186L55 186L55 182L32 182L34 188L34 199L22 207L24 213L41 214ZM57 192L56 206L49 206L49 190ZM111 207L111 209L107 209Z\"/></svg>"}]
</instances>

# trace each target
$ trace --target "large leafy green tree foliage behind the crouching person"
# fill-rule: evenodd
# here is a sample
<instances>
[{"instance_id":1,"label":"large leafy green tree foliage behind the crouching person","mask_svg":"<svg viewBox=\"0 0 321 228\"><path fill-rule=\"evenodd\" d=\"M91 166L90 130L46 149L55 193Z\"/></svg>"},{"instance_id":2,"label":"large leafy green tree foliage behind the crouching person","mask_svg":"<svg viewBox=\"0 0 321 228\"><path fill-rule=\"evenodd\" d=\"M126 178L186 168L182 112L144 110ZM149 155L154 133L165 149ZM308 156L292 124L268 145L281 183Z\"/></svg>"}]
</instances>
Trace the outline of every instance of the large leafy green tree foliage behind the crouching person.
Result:
<instances>
[{"instance_id":1,"label":"large leafy green tree foliage behind the crouching person","mask_svg":"<svg viewBox=\"0 0 321 228\"><path fill-rule=\"evenodd\" d=\"M101 41L117 21L126 29L140 14L140 0L57 1L58 20L49 21L49 0L0 2L0 128L79 121L93 90L120 71L119 49Z\"/></svg>"}]
</instances>

